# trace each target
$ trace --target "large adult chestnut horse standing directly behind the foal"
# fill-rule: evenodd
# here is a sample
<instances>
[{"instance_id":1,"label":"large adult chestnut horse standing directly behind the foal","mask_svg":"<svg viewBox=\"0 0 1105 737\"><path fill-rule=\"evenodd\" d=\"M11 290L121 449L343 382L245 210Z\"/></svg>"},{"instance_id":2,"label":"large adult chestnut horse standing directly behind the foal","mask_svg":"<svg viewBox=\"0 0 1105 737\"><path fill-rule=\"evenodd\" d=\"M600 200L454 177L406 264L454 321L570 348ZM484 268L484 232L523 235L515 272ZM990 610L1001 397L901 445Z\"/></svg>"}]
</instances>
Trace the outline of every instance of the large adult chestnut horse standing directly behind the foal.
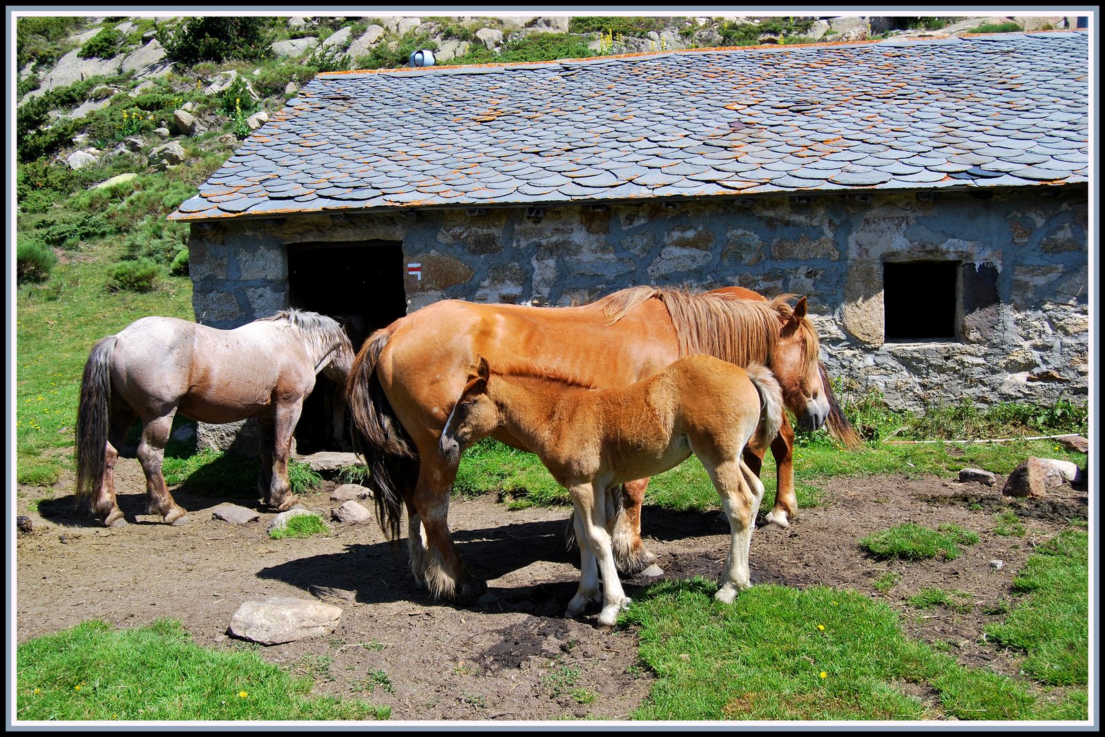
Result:
<instances>
[{"instance_id":1,"label":"large adult chestnut horse standing directly behind the foal","mask_svg":"<svg viewBox=\"0 0 1105 737\"><path fill-rule=\"evenodd\" d=\"M436 452L438 440L467 371L482 355L524 358L534 367L573 373L612 388L659 373L681 356L714 355L737 365L768 365L787 407L803 427L834 417L835 399L822 380L819 344L806 301L740 299L726 292L631 287L580 307L527 307L438 302L377 330L365 341L346 385L354 448L369 467L378 518L399 536L401 504L414 578L439 598L476 599L486 585L472 577L448 527L456 464ZM496 439L528 450L509 433ZM653 559L640 538L648 480L625 484L624 514L614 555L630 570ZM791 487L792 488L792 487ZM777 509L786 502L777 496ZM791 494L792 498L792 494ZM792 514L792 510L789 512Z\"/></svg>"}]
</instances>

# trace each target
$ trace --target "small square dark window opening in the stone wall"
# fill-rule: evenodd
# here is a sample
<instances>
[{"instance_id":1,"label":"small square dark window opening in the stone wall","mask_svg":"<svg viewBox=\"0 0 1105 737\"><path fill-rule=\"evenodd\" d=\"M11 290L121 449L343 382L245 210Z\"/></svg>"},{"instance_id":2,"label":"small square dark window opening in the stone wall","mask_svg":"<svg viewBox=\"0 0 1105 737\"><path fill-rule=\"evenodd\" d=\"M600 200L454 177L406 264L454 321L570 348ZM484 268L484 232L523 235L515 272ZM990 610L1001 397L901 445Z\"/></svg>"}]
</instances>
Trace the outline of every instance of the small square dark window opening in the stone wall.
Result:
<instances>
[{"instance_id":1,"label":"small square dark window opening in the stone wall","mask_svg":"<svg viewBox=\"0 0 1105 737\"><path fill-rule=\"evenodd\" d=\"M957 261L884 263L885 339L955 340L958 274Z\"/></svg>"}]
</instances>

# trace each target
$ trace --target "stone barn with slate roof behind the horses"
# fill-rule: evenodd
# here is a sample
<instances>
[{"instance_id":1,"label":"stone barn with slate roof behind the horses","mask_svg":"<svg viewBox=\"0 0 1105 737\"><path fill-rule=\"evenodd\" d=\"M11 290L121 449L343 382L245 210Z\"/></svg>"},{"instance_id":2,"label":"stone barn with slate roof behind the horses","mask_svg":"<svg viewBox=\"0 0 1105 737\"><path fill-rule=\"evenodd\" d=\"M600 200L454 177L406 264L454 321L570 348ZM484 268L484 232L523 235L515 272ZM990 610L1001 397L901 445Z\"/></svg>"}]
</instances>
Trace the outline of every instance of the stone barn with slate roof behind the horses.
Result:
<instances>
[{"instance_id":1,"label":"stone barn with slate roof behind the horses","mask_svg":"<svg viewBox=\"0 0 1105 737\"><path fill-rule=\"evenodd\" d=\"M1087 75L1083 31L319 74L172 218L217 327L739 284L893 407L1081 401Z\"/></svg>"}]
</instances>

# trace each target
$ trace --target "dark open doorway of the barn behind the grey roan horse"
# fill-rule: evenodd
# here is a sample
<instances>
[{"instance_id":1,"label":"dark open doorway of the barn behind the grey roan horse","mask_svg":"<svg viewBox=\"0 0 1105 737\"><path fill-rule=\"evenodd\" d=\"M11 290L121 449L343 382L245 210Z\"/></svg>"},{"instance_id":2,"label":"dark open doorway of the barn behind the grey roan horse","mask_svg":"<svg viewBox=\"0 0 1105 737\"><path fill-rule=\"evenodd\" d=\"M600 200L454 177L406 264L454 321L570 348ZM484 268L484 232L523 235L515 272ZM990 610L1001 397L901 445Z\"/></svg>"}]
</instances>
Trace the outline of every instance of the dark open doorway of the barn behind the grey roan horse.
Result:
<instances>
[{"instance_id":1,"label":"dark open doorway of the barn behind the grey roan horse","mask_svg":"<svg viewBox=\"0 0 1105 737\"><path fill-rule=\"evenodd\" d=\"M407 314L403 251L399 241L299 243L288 246L291 305L328 315L346 326L354 351L372 330ZM349 451L339 387L322 373L295 429L299 453Z\"/></svg>"}]
</instances>

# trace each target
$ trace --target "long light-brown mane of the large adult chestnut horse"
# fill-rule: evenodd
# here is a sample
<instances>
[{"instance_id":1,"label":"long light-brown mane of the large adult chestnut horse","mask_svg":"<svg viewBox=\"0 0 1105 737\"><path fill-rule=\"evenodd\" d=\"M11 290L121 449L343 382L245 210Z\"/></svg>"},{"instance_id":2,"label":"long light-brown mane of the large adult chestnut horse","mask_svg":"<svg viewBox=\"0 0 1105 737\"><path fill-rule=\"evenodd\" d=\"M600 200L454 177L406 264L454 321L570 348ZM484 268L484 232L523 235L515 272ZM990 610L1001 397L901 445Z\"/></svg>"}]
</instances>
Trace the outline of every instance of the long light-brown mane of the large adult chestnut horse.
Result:
<instances>
[{"instance_id":1,"label":"long light-brown mane of the large adult chestnut horse","mask_svg":"<svg viewBox=\"0 0 1105 737\"><path fill-rule=\"evenodd\" d=\"M610 324L622 319L649 299L660 299L672 318L680 341L680 356L706 354L747 366L771 365L779 328L790 319L793 294L774 299L743 299L732 294L694 293L688 289L631 286L594 303ZM809 320L801 320L806 368L818 360L818 336Z\"/></svg>"}]
</instances>

